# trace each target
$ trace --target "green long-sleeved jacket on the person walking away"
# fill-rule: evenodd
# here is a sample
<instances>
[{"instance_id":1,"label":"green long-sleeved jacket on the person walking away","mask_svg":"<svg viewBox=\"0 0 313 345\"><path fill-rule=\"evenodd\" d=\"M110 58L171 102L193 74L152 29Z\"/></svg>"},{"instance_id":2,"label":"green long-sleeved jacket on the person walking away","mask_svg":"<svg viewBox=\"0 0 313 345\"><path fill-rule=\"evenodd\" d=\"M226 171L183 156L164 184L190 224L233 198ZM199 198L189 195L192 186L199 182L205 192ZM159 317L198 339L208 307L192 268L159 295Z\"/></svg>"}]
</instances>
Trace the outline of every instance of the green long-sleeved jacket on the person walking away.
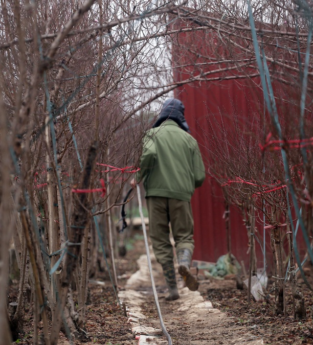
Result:
<instances>
[{"instance_id":1,"label":"green long-sleeved jacket on the person walking away","mask_svg":"<svg viewBox=\"0 0 313 345\"><path fill-rule=\"evenodd\" d=\"M140 172L146 197L190 201L205 178L204 164L195 138L173 120L149 130L144 138Z\"/></svg>"}]
</instances>

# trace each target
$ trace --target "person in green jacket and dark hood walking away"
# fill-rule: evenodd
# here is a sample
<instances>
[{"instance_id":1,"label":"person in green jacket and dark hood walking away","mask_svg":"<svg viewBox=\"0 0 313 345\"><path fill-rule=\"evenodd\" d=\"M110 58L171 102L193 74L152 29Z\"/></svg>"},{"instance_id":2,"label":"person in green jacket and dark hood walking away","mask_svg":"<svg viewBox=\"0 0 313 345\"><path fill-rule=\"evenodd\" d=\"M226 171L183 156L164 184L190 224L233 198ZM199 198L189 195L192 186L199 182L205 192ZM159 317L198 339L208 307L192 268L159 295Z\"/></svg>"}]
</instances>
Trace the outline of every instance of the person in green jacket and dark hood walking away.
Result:
<instances>
[{"instance_id":1,"label":"person in green jacket and dark hood walking away","mask_svg":"<svg viewBox=\"0 0 313 345\"><path fill-rule=\"evenodd\" d=\"M143 141L140 171L131 185L143 181L149 215L149 233L157 262L162 265L169 290L166 300L179 299L170 228L175 241L179 274L196 291L199 283L190 273L194 251L190 200L205 178L198 143L188 132L184 105L170 98L162 106L153 128Z\"/></svg>"}]
</instances>

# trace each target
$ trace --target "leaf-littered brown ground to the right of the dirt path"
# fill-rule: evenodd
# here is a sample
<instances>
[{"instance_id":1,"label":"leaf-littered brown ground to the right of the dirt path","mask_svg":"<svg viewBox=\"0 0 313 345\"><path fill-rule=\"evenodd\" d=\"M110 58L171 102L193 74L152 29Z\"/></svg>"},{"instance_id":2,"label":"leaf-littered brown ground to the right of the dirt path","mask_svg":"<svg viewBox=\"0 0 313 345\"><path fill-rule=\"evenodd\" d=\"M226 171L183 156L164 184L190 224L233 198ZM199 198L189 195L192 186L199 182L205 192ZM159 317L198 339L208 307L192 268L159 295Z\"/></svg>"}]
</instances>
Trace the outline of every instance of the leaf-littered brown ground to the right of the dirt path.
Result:
<instances>
[{"instance_id":1,"label":"leaf-littered brown ground to the right of the dirt path","mask_svg":"<svg viewBox=\"0 0 313 345\"><path fill-rule=\"evenodd\" d=\"M268 289L272 283L269 281ZM313 344L312 292L301 278L298 279L298 291L304 295L307 311L307 319L301 321L293 319L289 284L286 286L287 315L275 315L275 297L271 294L268 295L268 301L255 301L252 298L248 304L246 289L238 290L234 280L212 282L212 287L207 289L203 297L235 322L244 325L251 334L261 337L265 344Z\"/></svg>"}]
</instances>

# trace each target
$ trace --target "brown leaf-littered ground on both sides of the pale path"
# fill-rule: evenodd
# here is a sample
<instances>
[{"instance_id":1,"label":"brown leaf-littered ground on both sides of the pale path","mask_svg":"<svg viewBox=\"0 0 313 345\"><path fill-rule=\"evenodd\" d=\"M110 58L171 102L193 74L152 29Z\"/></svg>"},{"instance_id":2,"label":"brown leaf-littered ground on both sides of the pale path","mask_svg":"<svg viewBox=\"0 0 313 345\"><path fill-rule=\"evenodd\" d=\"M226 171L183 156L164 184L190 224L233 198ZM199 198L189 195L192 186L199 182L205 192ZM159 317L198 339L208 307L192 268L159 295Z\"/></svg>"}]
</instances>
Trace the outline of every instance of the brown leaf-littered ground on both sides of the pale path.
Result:
<instances>
[{"instance_id":1,"label":"brown leaf-littered ground on both sides of the pale path","mask_svg":"<svg viewBox=\"0 0 313 345\"><path fill-rule=\"evenodd\" d=\"M123 288L127 278L137 270L136 260L144 253L143 238L140 235L128 246L124 257L117 260L117 274L120 276L120 288ZM306 271L307 278L313 282L311 267ZM311 276L312 274L312 276ZM86 330L89 335L87 343L73 341L72 344L104 344L104 345L136 345L137 341L131 332L127 317L116 301L111 281L107 272L102 272L92 279L104 281L105 285L90 284L90 304L87 308ZM301 277L298 279L298 290L305 296L307 319L293 320L290 286L287 286L288 315L274 314L274 295L270 295L268 302L256 302L253 298L247 303L246 289L238 290L236 281L211 279L201 295L209 299L213 307L220 309L233 319L238 325L246 327L247 331L263 338L265 344L313 344L312 292L304 284ZM272 286L269 281L268 289ZM8 291L8 301L15 301L18 286L12 284ZM31 310L26 310L24 335L15 344L32 343L33 316ZM61 335L61 345L70 344L66 337Z\"/></svg>"}]
</instances>

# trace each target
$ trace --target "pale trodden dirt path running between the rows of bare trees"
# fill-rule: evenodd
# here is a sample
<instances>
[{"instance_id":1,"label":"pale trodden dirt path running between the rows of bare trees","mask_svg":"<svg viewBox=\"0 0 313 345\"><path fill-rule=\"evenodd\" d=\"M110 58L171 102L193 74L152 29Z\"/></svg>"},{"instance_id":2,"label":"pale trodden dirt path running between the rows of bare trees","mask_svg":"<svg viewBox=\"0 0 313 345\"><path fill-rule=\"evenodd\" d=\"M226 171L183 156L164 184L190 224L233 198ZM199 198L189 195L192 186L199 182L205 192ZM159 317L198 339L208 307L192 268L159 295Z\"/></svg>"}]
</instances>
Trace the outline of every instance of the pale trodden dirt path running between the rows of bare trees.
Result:
<instances>
[{"instance_id":1,"label":"pale trodden dirt path running between the rows of bare trees","mask_svg":"<svg viewBox=\"0 0 313 345\"><path fill-rule=\"evenodd\" d=\"M199 291L192 292L185 287L179 288L180 299L165 301L165 281L161 266L152 255L153 275L158 291L158 300L165 327L173 345L259 345L263 340L246 332L246 327L236 324L220 310L205 301L201 291L211 284L201 281ZM139 270L126 284L126 290L119 292L125 302L133 333L139 338L139 345L168 344L160 326L155 299L148 269L147 256L138 259ZM181 282L180 282L180 285Z\"/></svg>"}]
</instances>

